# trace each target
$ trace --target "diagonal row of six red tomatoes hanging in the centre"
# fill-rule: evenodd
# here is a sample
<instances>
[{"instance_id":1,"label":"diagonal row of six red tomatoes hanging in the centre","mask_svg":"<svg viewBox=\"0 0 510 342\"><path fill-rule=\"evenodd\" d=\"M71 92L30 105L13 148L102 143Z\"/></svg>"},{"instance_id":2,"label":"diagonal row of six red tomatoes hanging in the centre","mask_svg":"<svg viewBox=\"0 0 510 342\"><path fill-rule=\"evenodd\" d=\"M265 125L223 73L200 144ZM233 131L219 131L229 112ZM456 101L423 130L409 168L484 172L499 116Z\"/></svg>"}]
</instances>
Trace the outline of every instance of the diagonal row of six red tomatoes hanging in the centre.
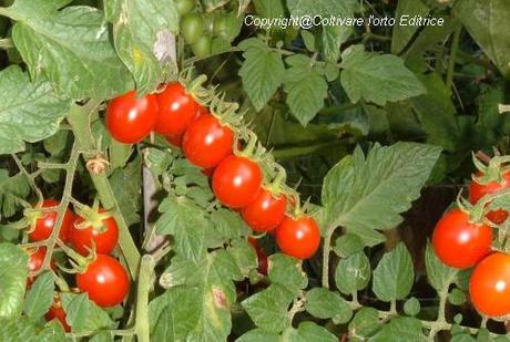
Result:
<instances>
[{"instance_id":1,"label":"diagonal row of six red tomatoes hanging in the centre","mask_svg":"<svg viewBox=\"0 0 510 342\"><path fill-rule=\"evenodd\" d=\"M287 215L292 200L264 184L259 164L249 155L234 153L235 128L198 104L178 82L159 94L137 97L126 93L110 102L106 126L122 143L137 143L151 131L182 148L184 156L206 175L218 201L241 211L256 232L274 232L279 249L298 259L312 257L320 234L316 221L304 214Z\"/></svg>"}]
</instances>

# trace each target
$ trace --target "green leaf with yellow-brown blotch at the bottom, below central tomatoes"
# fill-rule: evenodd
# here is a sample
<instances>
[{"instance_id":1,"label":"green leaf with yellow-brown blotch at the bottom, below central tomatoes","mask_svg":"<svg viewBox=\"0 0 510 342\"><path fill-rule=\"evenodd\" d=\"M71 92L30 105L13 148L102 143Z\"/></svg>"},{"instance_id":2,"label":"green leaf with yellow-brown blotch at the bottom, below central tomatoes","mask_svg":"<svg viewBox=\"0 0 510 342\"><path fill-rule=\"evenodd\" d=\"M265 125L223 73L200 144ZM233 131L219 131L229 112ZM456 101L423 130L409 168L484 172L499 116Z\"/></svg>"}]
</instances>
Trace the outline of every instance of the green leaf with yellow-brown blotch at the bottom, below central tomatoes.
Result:
<instances>
[{"instance_id":1,"label":"green leaf with yellow-brown blotch at the bottom, below central tomatoes","mask_svg":"<svg viewBox=\"0 0 510 342\"><path fill-rule=\"evenodd\" d=\"M175 338L175 340L162 338L154 340L225 341L232 329L230 310L236 298L233 280L241 281L243 279L235 258L227 251L218 249L207 253L198 266L182 259L173 259L172 263L174 265L175 262L178 262L180 267L172 266L169 268L164 273L167 276L163 276L164 279L162 277L160 282L172 284L173 287L169 290L172 293L173 291L181 291L169 294L171 302L175 304L169 304L167 310L172 311L176 310L175 308L183 307L182 310L186 311L184 313L182 311L164 313L169 319L157 319L159 327L154 325L152 330L160 330L159 334L162 334L161 336L167 336L169 332L165 330L169 329L169 320L173 320L172 324L177 324L176 315L178 318L188 315L187 320L190 322L178 322L178 324L182 324L178 328L178 334L170 330L172 334L177 334L177 336L185 335L186 338ZM167 278L170 278L170 281L166 281ZM184 286L190 289L174 290ZM190 308L190 311L186 308ZM152 310L159 312L162 310L160 309ZM192 312L192 314L187 312ZM176 331L177 327L170 329Z\"/></svg>"}]
</instances>

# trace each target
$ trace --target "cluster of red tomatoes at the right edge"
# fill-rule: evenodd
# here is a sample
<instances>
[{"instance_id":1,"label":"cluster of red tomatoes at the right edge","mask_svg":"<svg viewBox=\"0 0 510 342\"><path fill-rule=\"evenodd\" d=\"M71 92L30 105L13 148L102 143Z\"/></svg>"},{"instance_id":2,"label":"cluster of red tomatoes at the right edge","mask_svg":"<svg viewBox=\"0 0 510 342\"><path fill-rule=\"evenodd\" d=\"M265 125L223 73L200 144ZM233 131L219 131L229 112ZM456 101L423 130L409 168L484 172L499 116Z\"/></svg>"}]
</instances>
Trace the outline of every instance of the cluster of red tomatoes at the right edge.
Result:
<instances>
[{"instance_id":1,"label":"cluster of red tomatoes at the right edge","mask_svg":"<svg viewBox=\"0 0 510 342\"><path fill-rule=\"evenodd\" d=\"M478 173L469 186L469 200L477 204L483 196L510 187L510 173L501 182L480 184ZM482 204L483 205L483 204ZM508 218L502 209L489 211L487 219L501 225ZM510 314L510 256L492 252L492 228L484 221L473 221L468 210L452 209L437 222L432 245L439 259L453 268L475 267L469 294L477 310L488 317Z\"/></svg>"}]
</instances>

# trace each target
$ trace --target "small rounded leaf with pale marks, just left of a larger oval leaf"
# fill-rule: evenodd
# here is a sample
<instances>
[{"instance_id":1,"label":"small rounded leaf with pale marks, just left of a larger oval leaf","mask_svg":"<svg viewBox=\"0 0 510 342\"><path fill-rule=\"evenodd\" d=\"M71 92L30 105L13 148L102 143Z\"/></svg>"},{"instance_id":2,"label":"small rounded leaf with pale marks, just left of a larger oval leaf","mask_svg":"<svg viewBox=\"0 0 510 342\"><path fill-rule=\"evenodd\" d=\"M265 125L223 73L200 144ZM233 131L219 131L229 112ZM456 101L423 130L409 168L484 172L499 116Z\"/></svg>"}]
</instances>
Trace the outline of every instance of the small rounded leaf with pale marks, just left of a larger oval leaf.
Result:
<instances>
[{"instance_id":1,"label":"small rounded leaf with pale marks, just left of a larger oval leaf","mask_svg":"<svg viewBox=\"0 0 510 342\"><path fill-rule=\"evenodd\" d=\"M345 294L353 294L368 286L370 281L370 262L360 251L346 259L340 259L335 271L335 282L338 290Z\"/></svg>"}]
</instances>

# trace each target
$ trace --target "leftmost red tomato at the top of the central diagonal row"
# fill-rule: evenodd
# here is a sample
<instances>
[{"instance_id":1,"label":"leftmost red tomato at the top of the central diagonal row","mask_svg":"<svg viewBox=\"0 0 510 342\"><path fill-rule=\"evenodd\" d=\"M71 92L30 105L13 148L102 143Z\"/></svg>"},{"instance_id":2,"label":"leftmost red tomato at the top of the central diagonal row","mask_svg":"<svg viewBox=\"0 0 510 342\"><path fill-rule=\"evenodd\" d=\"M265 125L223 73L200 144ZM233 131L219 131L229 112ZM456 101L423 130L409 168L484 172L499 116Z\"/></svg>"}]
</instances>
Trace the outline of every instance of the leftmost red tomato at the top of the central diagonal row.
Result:
<instances>
[{"instance_id":1,"label":"leftmost red tomato at the top of the central diagonal row","mask_svg":"<svg viewBox=\"0 0 510 342\"><path fill-rule=\"evenodd\" d=\"M113 138L124 144L143 141L157 120L157 100L153 94L137 97L131 91L113 99L106 108L106 127Z\"/></svg>"}]
</instances>

